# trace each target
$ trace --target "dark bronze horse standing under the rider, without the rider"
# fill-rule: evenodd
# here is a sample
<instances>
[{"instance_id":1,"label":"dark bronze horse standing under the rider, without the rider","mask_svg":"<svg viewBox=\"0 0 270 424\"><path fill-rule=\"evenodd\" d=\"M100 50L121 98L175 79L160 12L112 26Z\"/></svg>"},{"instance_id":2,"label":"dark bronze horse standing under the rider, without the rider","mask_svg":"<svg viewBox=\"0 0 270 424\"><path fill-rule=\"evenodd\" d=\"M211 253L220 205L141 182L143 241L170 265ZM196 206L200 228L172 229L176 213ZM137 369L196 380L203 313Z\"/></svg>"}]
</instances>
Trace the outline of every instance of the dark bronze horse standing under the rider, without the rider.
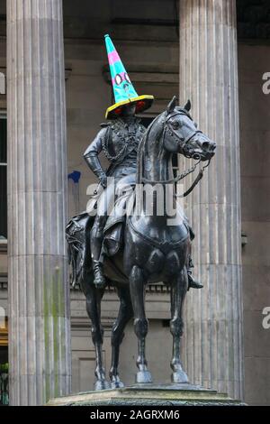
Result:
<instances>
[{"instance_id":1,"label":"dark bronze horse standing under the rider, without the rider","mask_svg":"<svg viewBox=\"0 0 270 424\"><path fill-rule=\"evenodd\" d=\"M174 214L166 211L168 198L163 198L165 211L160 214L160 199L155 194L149 214L145 195L135 192L136 213L127 217L123 224L121 248L104 261L106 281L116 288L120 299L118 318L112 327L111 385L106 381L102 358L101 300L104 290L94 287L91 269L89 233L93 218L84 213L73 218L67 226L73 279L80 284L85 294L86 310L92 321L92 338L96 352L95 390L123 386L118 372L119 350L124 328L132 317L139 349L136 382L152 382L145 355L148 319L144 294L148 283L158 281L169 285L171 291L172 382L188 382L181 363L180 340L183 334L182 311L188 288L186 265L191 240L189 228L176 203L172 155L180 153L186 158L210 161L216 148L216 143L197 129L189 115L190 108L190 102L183 108L176 106L174 97L166 111L149 125L139 143L137 185L158 185L164 192L168 192ZM170 219L173 219L173 224Z\"/></svg>"}]
</instances>

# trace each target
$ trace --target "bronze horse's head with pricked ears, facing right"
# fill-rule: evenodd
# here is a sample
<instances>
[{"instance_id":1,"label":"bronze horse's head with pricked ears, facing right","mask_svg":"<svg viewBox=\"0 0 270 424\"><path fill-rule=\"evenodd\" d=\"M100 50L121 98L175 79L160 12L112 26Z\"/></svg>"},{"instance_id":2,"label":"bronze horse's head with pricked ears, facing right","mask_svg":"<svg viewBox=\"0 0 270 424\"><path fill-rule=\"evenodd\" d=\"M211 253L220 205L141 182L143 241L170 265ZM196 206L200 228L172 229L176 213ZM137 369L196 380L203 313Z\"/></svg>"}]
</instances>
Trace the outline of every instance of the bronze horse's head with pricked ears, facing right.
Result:
<instances>
[{"instance_id":1,"label":"bronze horse's head with pricked ears, facing right","mask_svg":"<svg viewBox=\"0 0 270 424\"><path fill-rule=\"evenodd\" d=\"M189 114L190 109L190 101L183 108L176 106L176 97L168 104L164 113L164 148L168 152L182 153L186 158L209 161L217 145L198 130Z\"/></svg>"}]
</instances>

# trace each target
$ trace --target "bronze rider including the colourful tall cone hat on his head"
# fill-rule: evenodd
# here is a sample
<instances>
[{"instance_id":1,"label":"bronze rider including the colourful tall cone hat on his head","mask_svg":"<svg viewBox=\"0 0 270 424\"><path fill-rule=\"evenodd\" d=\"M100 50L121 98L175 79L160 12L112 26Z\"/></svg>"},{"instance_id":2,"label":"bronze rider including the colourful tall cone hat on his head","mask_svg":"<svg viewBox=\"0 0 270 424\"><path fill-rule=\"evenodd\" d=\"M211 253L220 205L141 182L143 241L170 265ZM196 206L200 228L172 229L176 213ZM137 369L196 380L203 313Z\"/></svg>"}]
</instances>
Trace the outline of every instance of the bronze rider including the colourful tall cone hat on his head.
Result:
<instances>
[{"instance_id":1,"label":"bronze rider including the colourful tall cone hat on his head","mask_svg":"<svg viewBox=\"0 0 270 424\"><path fill-rule=\"evenodd\" d=\"M102 124L102 130L96 135L94 142L89 145L84 155L89 168L104 189L98 201L97 214L91 231L91 253L96 287L103 287L105 284L101 254L103 229L107 220L110 199L114 195L114 188L120 180L128 184L134 184L136 180L138 146L145 127L140 124L140 120L135 114L150 107L154 99L148 95L138 96L109 35L105 35L105 42L116 103L108 108L106 118L110 120L106 124ZM103 171L99 161L100 152L103 152L111 162L107 172ZM107 185L108 177L114 178L114 184ZM193 239L191 228L190 234ZM189 287L200 289L202 285L194 281L192 267L190 256L187 266Z\"/></svg>"}]
</instances>

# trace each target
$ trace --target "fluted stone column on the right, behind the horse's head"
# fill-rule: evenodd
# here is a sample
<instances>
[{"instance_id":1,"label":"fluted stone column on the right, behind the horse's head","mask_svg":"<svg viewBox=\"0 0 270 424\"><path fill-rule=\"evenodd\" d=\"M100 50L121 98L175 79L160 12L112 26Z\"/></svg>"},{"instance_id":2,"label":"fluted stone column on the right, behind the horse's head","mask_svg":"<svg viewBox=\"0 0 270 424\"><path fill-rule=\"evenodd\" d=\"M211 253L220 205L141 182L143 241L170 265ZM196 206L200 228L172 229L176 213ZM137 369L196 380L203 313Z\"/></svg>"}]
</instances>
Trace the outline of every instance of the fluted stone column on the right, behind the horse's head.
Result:
<instances>
[{"instance_id":1,"label":"fluted stone column on the right, behind the horse's head","mask_svg":"<svg viewBox=\"0 0 270 424\"><path fill-rule=\"evenodd\" d=\"M187 198L203 290L186 302L185 359L193 383L242 398L242 287L238 52L235 0L180 1L180 102L217 144ZM190 167L190 161L185 161ZM193 179L194 177L192 177ZM186 180L189 187L191 180Z\"/></svg>"}]
</instances>

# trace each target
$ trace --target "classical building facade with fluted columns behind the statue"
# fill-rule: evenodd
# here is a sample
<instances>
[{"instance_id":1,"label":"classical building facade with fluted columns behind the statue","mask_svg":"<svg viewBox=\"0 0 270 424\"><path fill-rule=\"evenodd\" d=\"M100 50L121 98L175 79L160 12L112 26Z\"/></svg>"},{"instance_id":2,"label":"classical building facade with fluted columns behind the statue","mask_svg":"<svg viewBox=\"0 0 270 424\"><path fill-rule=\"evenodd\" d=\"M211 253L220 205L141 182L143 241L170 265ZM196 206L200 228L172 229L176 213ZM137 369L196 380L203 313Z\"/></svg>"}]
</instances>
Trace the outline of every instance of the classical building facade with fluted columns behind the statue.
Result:
<instances>
[{"instance_id":1,"label":"classical building facade with fluted columns behind the statue","mask_svg":"<svg viewBox=\"0 0 270 424\"><path fill-rule=\"evenodd\" d=\"M64 228L85 209L94 178L82 153L112 104L104 33L138 92L156 97L145 124L178 94L181 104L191 99L193 118L218 144L185 205L204 283L185 306L190 380L269 405L270 8L263 0L0 0L0 360L9 362L10 402L42 404L93 387L90 325L84 296L69 289ZM175 160L175 171L189 166ZM117 310L108 290L107 368ZM169 293L161 283L148 287L147 314L149 367L155 381L169 383ZM121 347L126 383L134 381L136 343L130 323Z\"/></svg>"}]
</instances>

